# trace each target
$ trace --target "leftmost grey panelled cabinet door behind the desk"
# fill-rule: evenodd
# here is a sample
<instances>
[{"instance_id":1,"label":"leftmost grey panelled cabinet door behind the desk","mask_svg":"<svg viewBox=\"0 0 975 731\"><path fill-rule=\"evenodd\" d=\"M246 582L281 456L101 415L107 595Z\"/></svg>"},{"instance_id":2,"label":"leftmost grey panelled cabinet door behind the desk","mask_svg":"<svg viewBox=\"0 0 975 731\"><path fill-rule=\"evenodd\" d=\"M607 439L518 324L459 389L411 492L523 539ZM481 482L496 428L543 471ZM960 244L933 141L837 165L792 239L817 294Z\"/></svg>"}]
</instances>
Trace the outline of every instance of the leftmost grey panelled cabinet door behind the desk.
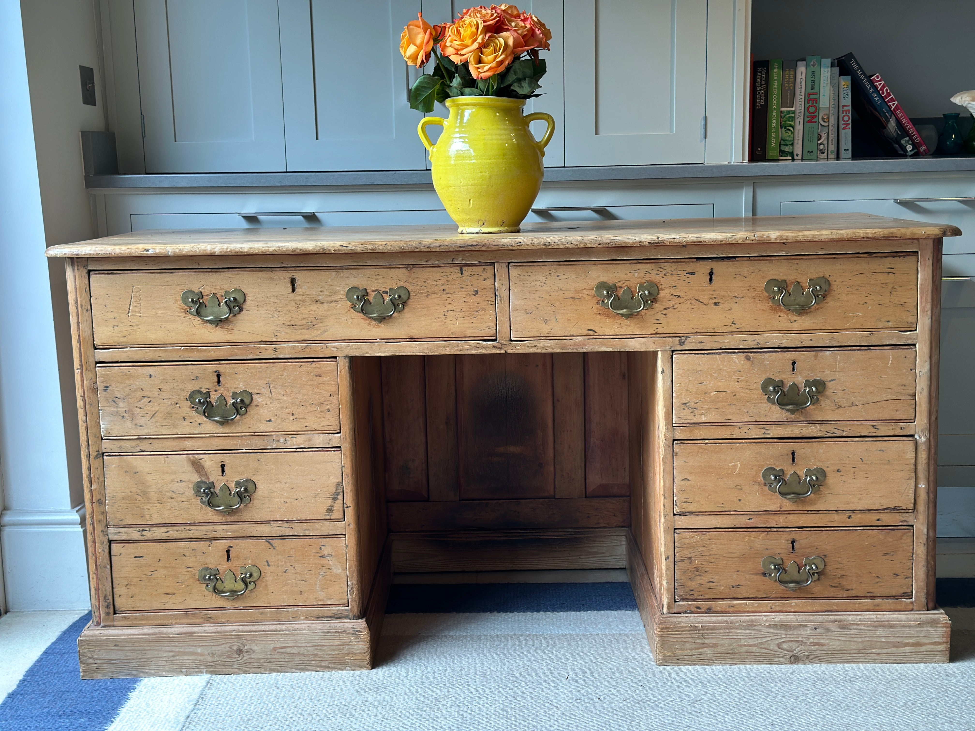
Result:
<instances>
[{"instance_id":1,"label":"leftmost grey panelled cabinet door behind the desk","mask_svg":"<svg viewBox=\"0 0 975 731\"><path fill-rule=\"evenodd\" d=\"M145 172L285 170L275 4L135 5Z\"/></svg>"}]
</instances>

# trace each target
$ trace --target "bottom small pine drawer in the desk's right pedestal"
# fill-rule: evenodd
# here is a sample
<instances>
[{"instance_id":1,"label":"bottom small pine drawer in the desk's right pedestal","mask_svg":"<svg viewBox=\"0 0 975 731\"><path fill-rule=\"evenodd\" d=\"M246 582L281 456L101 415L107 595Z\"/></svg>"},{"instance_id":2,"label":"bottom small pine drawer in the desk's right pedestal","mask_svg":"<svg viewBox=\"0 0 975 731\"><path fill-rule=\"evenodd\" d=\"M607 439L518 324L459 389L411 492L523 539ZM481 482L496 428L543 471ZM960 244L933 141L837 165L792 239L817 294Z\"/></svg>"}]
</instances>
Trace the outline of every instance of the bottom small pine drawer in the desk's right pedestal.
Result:
<instances>
[{"instance_id":1,"label":"bottom small pine drawer in the desk's right pedestal","mask_svg":"<svg viewBox=\"0 0 975 731\"><path fill-rule=\"evenodd\" d=\"M676 596L679 601L912 596L913 538L910 527L676 530ZM765 576L766 557L782 559L786 570L778 580L774 571L773 578ZM816 557L824 561L818 579L794 590L781 585L808 581L803 566Z\"/></svg>"}]
</instances>

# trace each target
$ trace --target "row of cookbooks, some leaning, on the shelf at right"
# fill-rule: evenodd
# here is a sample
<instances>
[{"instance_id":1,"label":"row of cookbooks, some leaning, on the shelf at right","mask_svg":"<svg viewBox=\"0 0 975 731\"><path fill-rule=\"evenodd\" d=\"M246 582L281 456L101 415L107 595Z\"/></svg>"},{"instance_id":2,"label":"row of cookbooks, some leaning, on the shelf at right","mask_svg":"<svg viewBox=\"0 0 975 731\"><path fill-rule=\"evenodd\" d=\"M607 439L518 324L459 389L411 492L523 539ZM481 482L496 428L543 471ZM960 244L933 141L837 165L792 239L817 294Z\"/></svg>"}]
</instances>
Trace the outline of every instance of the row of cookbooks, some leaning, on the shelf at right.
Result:
<instances>
[{"instance_id":1,"label":"row of cookbooks, some leaning, on the shelf at right","mask_svg":"<svg viewBox=\"0 0 975 731\"><path fill-rule=\"evenodd\" d=\"M853 54L788 68L781 58L753 61L749 160L850 160L854 112L881 153L929 154L880 75Z\"/></svg>"}]
</instances>

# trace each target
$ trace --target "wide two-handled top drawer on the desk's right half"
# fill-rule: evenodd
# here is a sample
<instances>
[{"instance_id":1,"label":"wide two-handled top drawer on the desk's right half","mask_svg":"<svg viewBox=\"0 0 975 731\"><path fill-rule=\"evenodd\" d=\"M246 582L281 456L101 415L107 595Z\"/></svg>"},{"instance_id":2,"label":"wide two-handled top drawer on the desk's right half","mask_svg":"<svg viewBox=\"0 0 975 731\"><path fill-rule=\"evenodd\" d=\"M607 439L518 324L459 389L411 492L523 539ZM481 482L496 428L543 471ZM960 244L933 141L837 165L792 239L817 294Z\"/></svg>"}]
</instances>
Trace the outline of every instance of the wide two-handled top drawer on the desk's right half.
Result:
<instances>
[{"instance_id":1,"label":"wide two-handled top drawer on the desk's right half","mask_svg":"<svg viewBox=\"0 0 975 731\"><path fill-rule=\"evenodd\" d=\"M798 313L773 303L765 291L771 279L808 289L818 277L829 281L829 290ZM625 309L625 303L601 304L595 293L601 282L616 285L620 294L624 288L636 293L648 282L658 293L624 318L612 308ZM796 302L803 305L801 298ZM916 253L511 265L514 338L915 327Z\"/></svg>"}]
</instances>

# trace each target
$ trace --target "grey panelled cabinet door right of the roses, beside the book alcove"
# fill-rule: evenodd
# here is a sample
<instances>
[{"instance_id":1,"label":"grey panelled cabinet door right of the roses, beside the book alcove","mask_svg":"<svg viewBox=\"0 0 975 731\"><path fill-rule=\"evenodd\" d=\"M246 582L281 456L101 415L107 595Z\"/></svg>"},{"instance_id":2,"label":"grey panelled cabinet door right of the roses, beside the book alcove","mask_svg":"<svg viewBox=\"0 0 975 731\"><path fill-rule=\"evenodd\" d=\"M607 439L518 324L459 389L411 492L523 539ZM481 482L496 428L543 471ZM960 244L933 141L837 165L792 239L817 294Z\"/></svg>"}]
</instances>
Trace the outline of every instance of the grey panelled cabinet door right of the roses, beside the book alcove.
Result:
<instances>
[{"instance_id":1,"label":"grey panelled cabinet door right of the roses, beside the book alcove","mask_svg":"<svg viewBox=\"0 0 975 731\"><path fill-rule=\"evenodd\" d=\"M565 165L703 163L707 0L565 0Z\"/></svg>"}]
</instances>

